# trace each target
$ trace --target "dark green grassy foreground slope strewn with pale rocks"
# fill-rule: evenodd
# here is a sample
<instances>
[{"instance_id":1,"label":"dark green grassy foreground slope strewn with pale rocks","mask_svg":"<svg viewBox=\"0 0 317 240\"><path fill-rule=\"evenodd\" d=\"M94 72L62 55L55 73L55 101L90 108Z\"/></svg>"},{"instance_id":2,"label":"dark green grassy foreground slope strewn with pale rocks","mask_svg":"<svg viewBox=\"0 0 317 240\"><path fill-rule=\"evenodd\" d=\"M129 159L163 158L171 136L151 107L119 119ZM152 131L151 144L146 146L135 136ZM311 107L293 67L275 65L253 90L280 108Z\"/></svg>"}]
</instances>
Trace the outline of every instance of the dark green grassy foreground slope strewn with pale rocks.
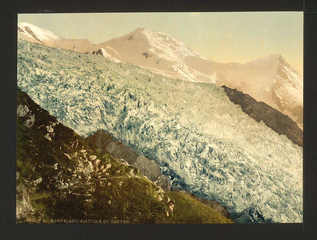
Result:
<instances>
[{"instance_id":1,"label":"dark green grassy foreground slope strewn with pale rocks","mask_svg":"<svg viewBox=\"0 0 317 240\"><path fill-rule=\"evenodd\" d=\"M17 222L232 223L192 197L165 193L20 90L17 104Z\"/></svg>"}]
</instances>

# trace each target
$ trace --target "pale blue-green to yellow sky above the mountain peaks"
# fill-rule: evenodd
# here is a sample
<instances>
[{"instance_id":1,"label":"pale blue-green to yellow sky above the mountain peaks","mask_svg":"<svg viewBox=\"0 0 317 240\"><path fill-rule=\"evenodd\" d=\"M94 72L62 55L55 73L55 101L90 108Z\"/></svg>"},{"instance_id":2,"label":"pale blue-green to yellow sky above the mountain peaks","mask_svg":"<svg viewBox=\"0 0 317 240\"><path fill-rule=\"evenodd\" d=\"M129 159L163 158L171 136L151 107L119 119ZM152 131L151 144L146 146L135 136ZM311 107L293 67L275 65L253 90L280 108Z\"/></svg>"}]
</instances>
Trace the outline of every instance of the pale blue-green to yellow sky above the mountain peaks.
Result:
<instances>
[{"instance_id":1,"label":"pale blue-green to yellow sky above the mountain peaks","mask_svg":"<svg viewBox=\"0 0 317 240\"><path fill-rule=\"evenodd\" d=\"M138 27L165 32L221 63L281 54L303 73L303 12L156 12L18 14L66 38L98 44Z\"/></svg>"}]
</instances>

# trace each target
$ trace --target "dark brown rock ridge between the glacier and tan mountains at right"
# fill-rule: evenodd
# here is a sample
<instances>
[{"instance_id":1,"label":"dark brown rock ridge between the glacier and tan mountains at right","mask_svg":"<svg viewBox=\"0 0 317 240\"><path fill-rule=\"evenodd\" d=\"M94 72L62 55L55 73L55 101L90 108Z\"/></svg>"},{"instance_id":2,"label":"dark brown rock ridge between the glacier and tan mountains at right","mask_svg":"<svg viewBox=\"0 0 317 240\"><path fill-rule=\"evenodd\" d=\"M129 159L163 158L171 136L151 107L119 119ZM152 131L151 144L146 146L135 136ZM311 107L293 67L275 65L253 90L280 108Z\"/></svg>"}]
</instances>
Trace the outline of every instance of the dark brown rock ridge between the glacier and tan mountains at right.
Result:
<instances>
[{"instance_id":1,"label":"dark brown rock ridge between the glacier and tan mountains at right","mask_svg":"<svg viewBox=\"0 0 317 240\"><path fill-rule=\"evenodd\" d=\"M262 120L269 128L280 135L285 135L294 144L303 147L303 131L290 117L272 108L266 103L258 102L253 97L236 89L223 85L230 101L241 106L243 112L255 119ZM296 112L299 112L298 110ZM299 113L297 113L299 115Z\"/></svg>"}]
</instances>

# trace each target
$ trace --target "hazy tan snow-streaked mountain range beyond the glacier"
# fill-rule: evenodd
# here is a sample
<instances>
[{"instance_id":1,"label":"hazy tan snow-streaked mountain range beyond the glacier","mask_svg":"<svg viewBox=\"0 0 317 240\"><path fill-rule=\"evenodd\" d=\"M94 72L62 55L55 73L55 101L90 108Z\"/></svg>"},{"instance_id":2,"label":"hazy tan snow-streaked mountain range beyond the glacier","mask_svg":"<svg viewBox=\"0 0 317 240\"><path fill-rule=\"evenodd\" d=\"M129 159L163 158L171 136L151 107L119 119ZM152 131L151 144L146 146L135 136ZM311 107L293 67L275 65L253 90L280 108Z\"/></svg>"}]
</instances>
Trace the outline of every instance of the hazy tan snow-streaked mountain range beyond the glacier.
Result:
<instances>
[{"instance_id":1,"label":"hazy tan snow-streaked mountain range beyond the glacier","mask_svg":"<svg viewBox=\"0 0 317 240\"><path fill-rule=\"evenodd\" d=\"M244 64L217 63L191 50L176 37L144 28L93 44L87 39L66 39L32 24L19 23L18 37L56 48L98 52L114 62L133 63L166 77L236 88L303 127L303 76L279 54Z\"/></svg>"}]
</instances>

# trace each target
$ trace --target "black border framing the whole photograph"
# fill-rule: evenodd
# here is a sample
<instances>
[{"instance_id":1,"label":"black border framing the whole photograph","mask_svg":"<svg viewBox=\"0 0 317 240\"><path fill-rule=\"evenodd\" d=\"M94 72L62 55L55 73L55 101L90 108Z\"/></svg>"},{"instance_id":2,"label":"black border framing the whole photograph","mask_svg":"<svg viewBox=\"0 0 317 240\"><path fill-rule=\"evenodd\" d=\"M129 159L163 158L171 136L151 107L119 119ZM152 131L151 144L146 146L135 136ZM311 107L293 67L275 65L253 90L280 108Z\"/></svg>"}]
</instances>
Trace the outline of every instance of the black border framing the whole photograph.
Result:
<instances>
[{"instance_id":1,"label":"black border framing the whole photograph","mask_svg":"<svg viewBox=\"0 0 317 240\"><path fill-rule=\"evenodd\" d=\"M316 235L316 1L56 1L2 2L0 135L2 239L315 239ZM304 11L303 223L265 224L27 224L16 223L17 14L75 12ZM42 13L39 13L42 14Z\"/></svg>"}]
</instances>

